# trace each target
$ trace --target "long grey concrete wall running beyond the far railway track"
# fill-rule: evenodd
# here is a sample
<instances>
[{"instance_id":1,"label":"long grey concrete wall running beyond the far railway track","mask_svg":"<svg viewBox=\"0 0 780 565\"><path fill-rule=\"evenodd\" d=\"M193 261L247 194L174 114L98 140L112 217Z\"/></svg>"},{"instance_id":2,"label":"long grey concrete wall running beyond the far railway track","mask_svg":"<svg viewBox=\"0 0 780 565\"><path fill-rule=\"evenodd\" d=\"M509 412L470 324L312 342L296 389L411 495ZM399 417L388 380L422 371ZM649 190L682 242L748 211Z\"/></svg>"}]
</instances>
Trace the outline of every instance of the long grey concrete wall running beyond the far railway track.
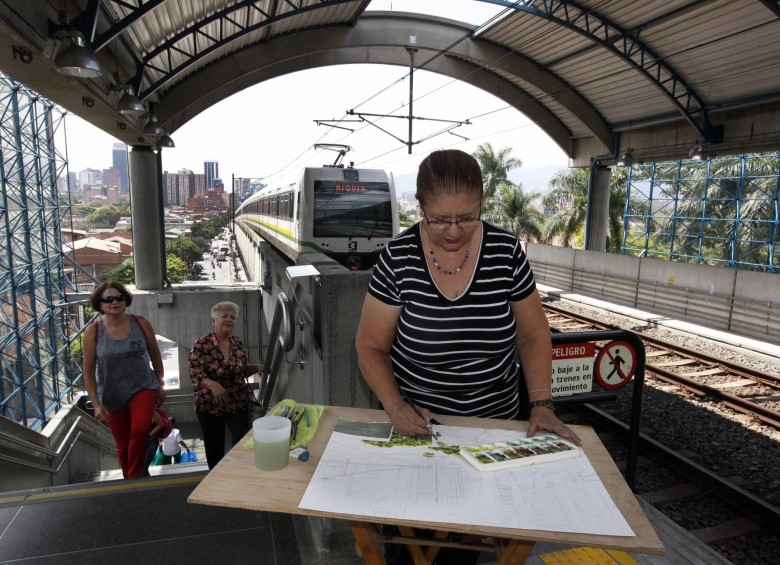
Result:
<instances>
[{"instance_id":1,"label":"long grey concrete wall running beyond the far railway track","mask_svg":"<svg viewBox=\"0 0 780 565\"><path fill-rule=\"evenodd\" d=\"M780 343L780 277L529 243L544 284Z\"/></svg>"}]
</instances>

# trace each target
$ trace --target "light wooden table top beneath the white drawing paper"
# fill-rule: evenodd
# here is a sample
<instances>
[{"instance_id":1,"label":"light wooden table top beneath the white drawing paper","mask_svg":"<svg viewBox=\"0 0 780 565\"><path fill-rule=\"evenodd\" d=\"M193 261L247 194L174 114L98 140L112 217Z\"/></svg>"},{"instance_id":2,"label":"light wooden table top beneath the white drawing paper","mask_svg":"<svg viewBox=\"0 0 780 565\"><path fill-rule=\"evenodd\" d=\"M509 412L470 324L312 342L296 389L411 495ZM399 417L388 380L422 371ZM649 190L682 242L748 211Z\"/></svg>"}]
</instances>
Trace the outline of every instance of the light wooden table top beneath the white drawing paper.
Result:
<instances>
[{"instance_id":1,"label":"light wooden table top beneath the white drawing paper","mask_svg":"<svg viewBox=\"0 0 780 565\"><path fill-rule=\"evenodd\" d=\"M652 525L642 511L631 489L615 466L607 450L596 433L588 426L572 426L583 442L583 449L598 473L602 483L607 486L612 500L618 507L631 529L633 537L605 536L594 534L574 534L544 530L521 530L515 528L496 528L469 526L464 524L422 523L414 520L377 519L374 517L320 512L298 508L309 481L314 475L320 456L330 439L339 418L358 421L387 421L381 410L365 408L345 408L326 406L320 419L319 429L309 444L309 460L302 462L290 459L289 465L281 471L260 471L255 467L254 455L244 447L247 437L225 455L212 469L187 499L193 504L240 508L244 510L283 512L307 516L324 516L345 520L358 520L373 523L387 523L409 526L426 526L439 530L471 533L483 536L507 539L522 539L576 545L589 545L608 549L622 549L639 553L664 553L664 546L653 530ZM524 431L527 422L512 420L491 420L467 418L461 416L440 416L436 419L443 425L484 429L517 429ZM251 432L250 432L251 434Z\"/></svg>"}]
</instances>

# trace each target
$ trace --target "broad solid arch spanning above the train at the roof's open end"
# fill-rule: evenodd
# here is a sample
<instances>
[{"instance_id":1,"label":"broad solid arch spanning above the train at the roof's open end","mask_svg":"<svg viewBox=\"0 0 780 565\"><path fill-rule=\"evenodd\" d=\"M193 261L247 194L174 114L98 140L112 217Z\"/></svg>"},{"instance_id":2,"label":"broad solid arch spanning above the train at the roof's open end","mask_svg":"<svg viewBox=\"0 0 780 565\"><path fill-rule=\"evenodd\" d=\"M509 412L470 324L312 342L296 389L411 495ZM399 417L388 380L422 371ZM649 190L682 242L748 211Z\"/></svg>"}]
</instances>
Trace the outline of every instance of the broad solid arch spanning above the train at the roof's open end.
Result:
<instances>
[{"instance_id":1,"label":"broad solid arch spanning above the train at the roof's open end","mask_svg":"<svg viewBox=\"0 0 780 565\"><path fill-rule=\"evenodd\" d=\"M407 66L408 53L402 49L405 45L403 38L415 34L419 29L417 26L430 26L433 23L409 14L402 14L401 17L404 19L398 20L397 15L371 15L362 18L360 25L353 28L341 26L335 30L301 30L296 35L289 34L272 42L248 46L243 51L240 68L236 65L225 68L226 60L221 59L172 85L160 104L158 116L170 131L176 131L209 106L254 84L311 68L365 63L367 61L361 51L365 47L372 47L371 64ZM433 32L430 34L437 38L435 44L426 45L421 42L418 44L419 49L437 53L440 51L440 44L448 44L452 38L462 35L466 30L463 24L453 26L446 22L434 23L440 26L432 28ZM378 37L383 32L386 36ZM420 41L419 31L417 35ZM311 48L312 45L315 45L316 49ZM309 46L308 49L306 46ZM500 75L495 71L479 66L479 60L492 60L506 53L505 48L490 42L472 43L454 48L445 57L435 58L426 65L426 69L461 80L517 108L542 128L567 155L573 156L571 130L563 125L554 112L515 83L504 77L497 80ZM284 58L285 65L278 64L281 57ZM552 96L565 85L555 75L543 69L540 73L545 76L529 77L532 74L527 70L529 64L527 60L521 60L519 56L512 54L511 57L504 57L497 68L500 68L501 72L524 77ZM480 70L474 73L477 67ZM210 86L206 88L202 85ZM556 99L574 115L582 113L582 108L587 106L582 97L565 89L564 94ZM580 120L597 139L603 139L607 147L612 146L609 125L603 118L587 114Z\"/></svg>"}]
</instances>

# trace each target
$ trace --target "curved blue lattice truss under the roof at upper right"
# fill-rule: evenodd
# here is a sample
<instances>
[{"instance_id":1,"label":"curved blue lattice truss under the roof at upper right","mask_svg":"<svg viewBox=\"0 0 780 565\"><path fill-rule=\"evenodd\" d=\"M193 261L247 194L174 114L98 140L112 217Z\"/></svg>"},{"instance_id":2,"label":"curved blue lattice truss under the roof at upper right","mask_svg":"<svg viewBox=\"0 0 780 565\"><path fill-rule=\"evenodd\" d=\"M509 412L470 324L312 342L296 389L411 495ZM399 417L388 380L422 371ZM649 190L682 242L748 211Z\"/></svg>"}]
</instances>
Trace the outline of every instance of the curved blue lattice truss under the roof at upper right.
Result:
<instances>
[{"instance_id":1,"label":"curved blue lattice truss under the roof at upper right","mask_svg":"<svg viewBox=\"0 0 780 565\"><path fill-rule=\"evenodd\" d=\"M677 107L688 123L699 132L704 141L723 139L723 126L715 126L709 121L706 105L696 91L633 33L571 0L521 3L506 0L478 1L513 8L519 12L544 18L598 43L632 65L655 84Z\"/></svg>"}]
</instances>

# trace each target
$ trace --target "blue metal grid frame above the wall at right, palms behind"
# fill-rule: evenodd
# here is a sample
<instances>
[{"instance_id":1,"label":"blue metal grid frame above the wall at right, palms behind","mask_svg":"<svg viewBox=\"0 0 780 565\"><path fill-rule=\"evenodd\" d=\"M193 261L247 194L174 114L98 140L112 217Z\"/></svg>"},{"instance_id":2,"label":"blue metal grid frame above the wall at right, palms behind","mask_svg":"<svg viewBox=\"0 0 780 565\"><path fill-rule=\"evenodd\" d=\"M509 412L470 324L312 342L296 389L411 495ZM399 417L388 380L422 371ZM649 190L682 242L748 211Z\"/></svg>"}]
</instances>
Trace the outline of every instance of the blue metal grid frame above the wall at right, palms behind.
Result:
<instances>
[{"instance_id":1,"label":"blue metal grid frame above the wall at right, palms behind","mask_svg":"<svg viewBox=\"0 0 780 565\"><path fill-rule=\"evenodd\" d=\"M780 152L632 166L622 253L780 273Z\"/></svg>"}]
</instances>

